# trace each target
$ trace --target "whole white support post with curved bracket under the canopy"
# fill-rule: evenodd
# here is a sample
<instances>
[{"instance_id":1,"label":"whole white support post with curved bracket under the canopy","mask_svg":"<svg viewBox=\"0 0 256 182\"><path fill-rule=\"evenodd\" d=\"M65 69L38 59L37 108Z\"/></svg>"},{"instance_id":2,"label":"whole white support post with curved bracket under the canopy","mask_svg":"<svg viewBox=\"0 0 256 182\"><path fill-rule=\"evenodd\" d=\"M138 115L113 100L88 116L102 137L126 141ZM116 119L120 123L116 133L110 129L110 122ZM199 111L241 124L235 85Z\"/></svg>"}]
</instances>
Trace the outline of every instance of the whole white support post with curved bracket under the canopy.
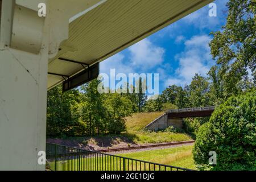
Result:
<instances>
[{"instance_id":1,"label":"whole white support post with curved bracket under the canopy","mask_svg":"<svg viewBox=\"0 0 256 182\"><path fill-rule=\"evenodd\" d=\"M69 19L105 0L0 2L0 170L45 170L48 61L68 39Z\"/></svg>"}]
</instances>

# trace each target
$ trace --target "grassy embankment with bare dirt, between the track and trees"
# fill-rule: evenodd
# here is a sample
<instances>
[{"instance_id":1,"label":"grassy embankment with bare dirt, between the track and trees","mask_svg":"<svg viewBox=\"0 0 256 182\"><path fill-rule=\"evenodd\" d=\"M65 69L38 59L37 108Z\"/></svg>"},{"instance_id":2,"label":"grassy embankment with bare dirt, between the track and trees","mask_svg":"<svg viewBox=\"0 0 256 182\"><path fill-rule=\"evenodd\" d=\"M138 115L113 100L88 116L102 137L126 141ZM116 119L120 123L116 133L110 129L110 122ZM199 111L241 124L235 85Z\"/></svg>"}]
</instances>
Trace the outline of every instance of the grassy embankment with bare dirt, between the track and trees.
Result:
<instances>
[{"instance_id":1,"label":"grassy embankment with bare dirt, between the track and trees","mask_svg":"<svg viewBox=\"0 0 256 182\"><path fill-rule=\"evenodd\" d=\"M127 147L135 144L180 142L191 140L184 133L172 133L168 131L150 132L143 128L162 115L163 112L135 113L126 118L127 131L120 135L101 135L94 137L68 137L63 139L48 139L48 142L63 144L65 146L84 149L100 150L101 148Z\"/></svg>"}]
</instances>

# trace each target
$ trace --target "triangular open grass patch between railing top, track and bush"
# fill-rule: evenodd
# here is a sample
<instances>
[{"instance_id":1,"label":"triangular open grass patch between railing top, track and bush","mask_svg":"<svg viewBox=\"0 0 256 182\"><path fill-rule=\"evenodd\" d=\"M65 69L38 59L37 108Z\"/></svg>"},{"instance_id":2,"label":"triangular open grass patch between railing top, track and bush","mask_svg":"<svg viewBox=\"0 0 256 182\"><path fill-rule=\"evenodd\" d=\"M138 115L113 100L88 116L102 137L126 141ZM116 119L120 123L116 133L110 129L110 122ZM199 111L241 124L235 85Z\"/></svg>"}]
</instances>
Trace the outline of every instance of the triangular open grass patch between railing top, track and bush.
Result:
<instances>
[{"instance_id":1,"label":"triangular open grass patch between railing top, track and bush","mask_svg":"<svg viewBox=\"0 0 256 182\"><path fill-rule=\"evenodd\" d=\"M160 150L132 152L118 154L127 158L146 160L149 162L166 164L170 166L196 169L192 156L193 146L180 146Z\"/></svg>"}]
</instances>

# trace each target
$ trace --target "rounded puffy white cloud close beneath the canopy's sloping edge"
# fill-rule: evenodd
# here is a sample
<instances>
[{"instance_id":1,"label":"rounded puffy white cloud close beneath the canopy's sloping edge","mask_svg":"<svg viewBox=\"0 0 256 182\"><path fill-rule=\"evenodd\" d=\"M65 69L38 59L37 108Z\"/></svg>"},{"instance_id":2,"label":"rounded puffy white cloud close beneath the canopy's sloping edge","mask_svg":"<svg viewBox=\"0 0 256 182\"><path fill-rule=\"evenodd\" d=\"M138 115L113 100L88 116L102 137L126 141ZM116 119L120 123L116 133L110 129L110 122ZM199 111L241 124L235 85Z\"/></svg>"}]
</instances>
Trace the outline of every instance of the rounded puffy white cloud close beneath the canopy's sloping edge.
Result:
<instances>
[{"instance_id":1,"label":"rounded puffy white cloud close beneath the canopy's sloping edge","mask_svg":"<svg viewBox=\"0 0 256 182\"><path fill-rule=\"evenodd\" d=\"M155 46L148 39L143 39L128 48L130 61L135 67L142 70L154 68L163 62L164 48Z\"/></svg>"}]
</instances>

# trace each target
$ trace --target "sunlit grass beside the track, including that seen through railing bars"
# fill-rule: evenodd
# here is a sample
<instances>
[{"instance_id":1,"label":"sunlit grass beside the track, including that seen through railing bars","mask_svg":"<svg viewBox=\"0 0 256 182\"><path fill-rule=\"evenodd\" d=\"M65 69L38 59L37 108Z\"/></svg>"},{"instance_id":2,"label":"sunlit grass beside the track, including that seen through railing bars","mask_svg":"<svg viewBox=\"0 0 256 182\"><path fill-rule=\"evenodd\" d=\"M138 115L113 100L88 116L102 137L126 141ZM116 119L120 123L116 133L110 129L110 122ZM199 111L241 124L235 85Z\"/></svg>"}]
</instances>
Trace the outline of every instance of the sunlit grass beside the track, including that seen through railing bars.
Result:
<instances>
[{"instance_id":1,"label":"sunlit grass beside the track, including that seen through railing bars","mask_svg":"<svg viewBox=\"0 0 256 182\"><path fill-rule=\"evenodd\" d=\"M123 171L124 161L123 158L118 156L123 156L131 159L144 160L147 162L166 164L175 167L182 167L188 169L196 169L195 164L193 164L192 157L192 146L181 146L175 148L166 148L162 150L152 150L152 151L141 151L141 152L132 152L128 154L118 154L118 156L100 156L99 154L90 155L87 158L80 158L80 168L79 168L79 159L72 159L70 156L63 156L61 162L57 162L57 171ZM55 162L50 163L50 168L55 169ZM159 166L154 166L154 164L146 165L144 163L125 160L125 169L126 170L135 170L137 171L148 171L152 169L159 170ZM160 167L161 170L165 168ZM170 168L167 168L170 170ZM136 170L135 170L136 171Z\"/></svg>"}]
</instances>

